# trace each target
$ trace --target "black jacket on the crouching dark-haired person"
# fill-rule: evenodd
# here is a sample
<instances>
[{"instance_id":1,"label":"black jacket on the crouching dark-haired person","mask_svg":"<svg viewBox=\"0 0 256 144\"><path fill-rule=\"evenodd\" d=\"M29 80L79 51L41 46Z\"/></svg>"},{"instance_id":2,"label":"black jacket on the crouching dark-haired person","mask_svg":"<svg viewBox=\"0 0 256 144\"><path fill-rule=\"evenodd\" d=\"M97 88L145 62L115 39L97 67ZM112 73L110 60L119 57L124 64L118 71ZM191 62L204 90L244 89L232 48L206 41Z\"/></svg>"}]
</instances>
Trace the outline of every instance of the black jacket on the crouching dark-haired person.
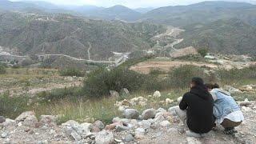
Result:
<instances>
[{"instance_id":1,"label":"black jacket on the crouching dark-haired person","mask_svg":"<svg viewBox=\"0 0 256 144\"><path fill-rule=\"evenodd\" d=\"M214 99L205 86L194 86L184 94L179 107L186 110L187 126L194 133L205 134L214 126Z\"/></svg>"}]
</instances>

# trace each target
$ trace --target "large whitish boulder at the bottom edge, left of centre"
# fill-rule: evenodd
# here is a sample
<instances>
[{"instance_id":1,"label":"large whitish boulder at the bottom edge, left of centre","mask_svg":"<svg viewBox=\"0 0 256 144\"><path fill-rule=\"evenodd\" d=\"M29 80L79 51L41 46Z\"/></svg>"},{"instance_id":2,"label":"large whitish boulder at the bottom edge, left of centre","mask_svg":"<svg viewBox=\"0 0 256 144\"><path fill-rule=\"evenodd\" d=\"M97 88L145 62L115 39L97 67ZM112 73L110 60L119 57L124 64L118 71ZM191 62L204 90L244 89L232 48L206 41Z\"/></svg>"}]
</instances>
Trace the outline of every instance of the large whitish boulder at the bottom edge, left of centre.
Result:
<instances>
[{"instance_id":1,"label":"large whitish boulder at the bottom edge, left of centre","mask_svg":"<svg viewBox=\"0 0 256 144\"><path fill-rule=\"evenodd\" d=\"M114 134L107 130L102 130L95 135L96 144L111 144L114 143Z\"/></svg>"}]
</instances>

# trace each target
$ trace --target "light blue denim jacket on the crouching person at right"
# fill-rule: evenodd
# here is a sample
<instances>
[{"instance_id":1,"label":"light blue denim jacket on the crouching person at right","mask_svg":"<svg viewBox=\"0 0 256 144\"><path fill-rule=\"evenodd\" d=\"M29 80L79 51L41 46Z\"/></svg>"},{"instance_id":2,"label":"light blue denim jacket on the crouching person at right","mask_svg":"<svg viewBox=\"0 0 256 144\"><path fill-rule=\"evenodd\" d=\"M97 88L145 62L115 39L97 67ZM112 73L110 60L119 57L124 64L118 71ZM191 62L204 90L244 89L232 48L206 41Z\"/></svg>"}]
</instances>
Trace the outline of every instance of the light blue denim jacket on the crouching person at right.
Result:
<instances>
[{"instance_id":1,"label":"light blue denim jacket on the crouching person at right","mask_svg":"<svg viewBox=\"0 0 256 144\"><path fill-rule=\"evenodd\" d=\"M210 91L210 94L214 98L214 117L224 118L226 115L240 110L238 104L234 101L234 98L230 96L230 93L221 89L214 89Z\"/></svg>"}]
</instances>

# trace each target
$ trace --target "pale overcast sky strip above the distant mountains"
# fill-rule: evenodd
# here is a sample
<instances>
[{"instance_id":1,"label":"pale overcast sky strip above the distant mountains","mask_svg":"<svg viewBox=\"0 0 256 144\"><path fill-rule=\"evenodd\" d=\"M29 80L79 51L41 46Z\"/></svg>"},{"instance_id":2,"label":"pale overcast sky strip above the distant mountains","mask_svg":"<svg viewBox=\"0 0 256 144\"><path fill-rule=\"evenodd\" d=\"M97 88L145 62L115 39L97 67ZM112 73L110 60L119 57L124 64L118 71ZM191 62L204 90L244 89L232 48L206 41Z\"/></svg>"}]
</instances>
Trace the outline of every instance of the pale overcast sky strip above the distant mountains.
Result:
<instances>
[{"instance_id":1,"label":"pale overcast sky strip above the distant mountains","mask_svg":"<svg viewBox=\"0 0 256 144\"><path fill-rule=\"evenodd\" d=\"M0 0L1 1L1 0ZM11 1L45 1L58 5L94 5L94 6L114 6L123 5L130 8L138 7L160 7L188 5L191 3L202 2L206 0L11 0ZM232 2L255 2L256 0L226 0Z\"/></svg>"}]
</instances>

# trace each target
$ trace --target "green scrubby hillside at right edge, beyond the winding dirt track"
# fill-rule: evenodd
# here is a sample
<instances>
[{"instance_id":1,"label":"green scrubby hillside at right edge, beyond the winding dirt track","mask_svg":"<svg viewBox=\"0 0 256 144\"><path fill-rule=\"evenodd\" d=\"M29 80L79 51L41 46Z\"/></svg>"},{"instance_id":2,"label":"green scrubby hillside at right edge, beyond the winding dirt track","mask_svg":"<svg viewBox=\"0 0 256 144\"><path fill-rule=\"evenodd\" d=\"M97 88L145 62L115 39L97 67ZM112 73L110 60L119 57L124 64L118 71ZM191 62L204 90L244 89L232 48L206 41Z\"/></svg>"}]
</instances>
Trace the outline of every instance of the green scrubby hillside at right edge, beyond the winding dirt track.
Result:
<instances>
[{"instance_id":1,"label":"green scrubby hillside at right edge, beyond the winding dirt track","mask_svg":"<svg viewBox=\"0 0 256 144\"><path fill-rule=\"evenodd\" d=\"M256 26L235 18L186 26L180 37L184 41L178 48L194 46L226 54L256 54Z\"/></svg>"}]
</instances>

